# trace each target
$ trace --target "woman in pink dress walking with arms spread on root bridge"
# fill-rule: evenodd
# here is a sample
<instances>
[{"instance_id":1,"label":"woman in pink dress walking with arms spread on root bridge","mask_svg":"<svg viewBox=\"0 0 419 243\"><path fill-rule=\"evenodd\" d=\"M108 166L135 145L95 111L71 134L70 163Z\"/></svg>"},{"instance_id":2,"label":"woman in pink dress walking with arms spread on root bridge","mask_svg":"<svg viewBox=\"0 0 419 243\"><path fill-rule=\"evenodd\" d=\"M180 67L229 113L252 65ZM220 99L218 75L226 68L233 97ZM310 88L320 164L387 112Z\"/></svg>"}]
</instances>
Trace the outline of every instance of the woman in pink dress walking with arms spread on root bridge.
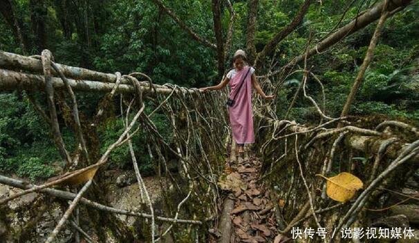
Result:
<instances>
[{"instance_id":1,"label":"woman in pink dress walking with arms spread on root bridge","mask_svg":"<svg viewBox=\"0 0 419 243\"><path fill-rule=\"evenodd\" d=\"M247 57L243 50L237 50L233 56L234 68L227 73L223 81L216 86L201 88L207 90L221 90L227 84L230 85L230 99L234 104L228 107L230 125L232 126L233 138L239 147L239 153L243 153L244 144L254 143L253 115L252 115L252 87L264 99L272 99L273 95L265 95L254 75L254 68L247 65ZM241 86L241 82L243 85Z\"/></svg>"}]
</instances>

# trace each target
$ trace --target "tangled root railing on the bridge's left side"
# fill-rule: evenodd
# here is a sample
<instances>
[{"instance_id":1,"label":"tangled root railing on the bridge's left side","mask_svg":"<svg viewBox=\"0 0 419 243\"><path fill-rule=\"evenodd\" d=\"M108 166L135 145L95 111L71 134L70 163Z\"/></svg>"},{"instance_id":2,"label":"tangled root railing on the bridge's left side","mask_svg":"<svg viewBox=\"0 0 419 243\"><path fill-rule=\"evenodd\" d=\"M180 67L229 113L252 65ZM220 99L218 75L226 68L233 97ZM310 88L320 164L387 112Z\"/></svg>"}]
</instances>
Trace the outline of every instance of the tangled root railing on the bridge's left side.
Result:
<instances>
[{"instance_id":1,"label":"tangled root railing on the bridge's left side","mask_svg":"<svg viewBox=\"0 0 419 243\"><path fill-rule=\"evenodd\" d=\"M30 58L29 61L36 60L36 58L39 59L37 56ZM35 110L50 127L55 146L64 162L66 162L66 173L51 178L48 182L41 185L26 184L15 179L0 176L0 183L23 189L23 191L14 195L2 198L0 204L6 204L10 200L15 200L17 197L34 192L47 193L53 197L68 200L68 208L63 212L61 220L50 233L46 242L53 242L59 231L66 225L66 222L68 222L68 226L75 228L77 235L80 233L87 242L92 242L91 237L82 230L80 222L69 220L71 215L77 214L75 212L82 206L89 206L106 213L150 219L151 236L149 242L160 240L174 226L177 227L176 230L181 229L182 224L201 226L207 220L214 218L214 215L218 215L216 204L220 195L216 182L218 175L223 171L222 165L219 163L221 162L220 153L225 150L223 137L230 134L228 129L225 129L228 127L227 113L225 113L225 110L219 109L222 106L221 104L224 103L225 93L202 95L199 90L194 88L187 89L171 84L156 85L153 84L150 77L141 72L133 72L129 75L121 75L119 72L116 72L115 75L108 75L90 70L73 72L77 68L71 69L61 64L55 64L49 50L42 52L41 64L43 67L41 73L39 73L39 70L33 70L32 74L22 74L20 77L33 81L36 87L35 90L46 91L48 112L45 112L44 108L39 105L39 102L33 95L33 91L28 91L27 96ZM7 77L10 77L10 73L12 71L8 72ZM80 77L80 73L87 76ZM53 77L53 75L57 75L59 79ZM66 75L73 79L69 79ZM91 79L92 81L75 81L75 79ZM146 81L139 81L138 79L145 79ZM21 84L27 85L29 83L23 81ZM60 132L59 119L55 110L57 102L57 99L55 99L55 88L64 88L66 90L64 95L68 95L72 103L72 108L68 106L68 110L71 110L72 115L67 116L66 119L73 119L73 121L69 122L73 124L75 138L77 139L76 144L78 144L73 153L68 152L68 147L64 144ZM113 99L115 99L115 96L124 94L124 96L121 95L120 102L124 130L120 137L96 159L92 155L92 153L95 154L96 152L89 150L89 148L94 146L89 144L89 139L86 140L88 131L86 131L86 128L82 128L83 121L80 117L84 116L80 116L74 93L86 88L109 92L100 103L97 114L91 117L92 122L89 123L89 129L93 130L97 129L98 125L104 120L104 113L113 102ZM131 99L132 96L133 99ZM131 102L127 101L127 98L130 98ZM63 102L62 104L66 106L65 101ZM129 105L124 107L124 104ZM150 113L145 112L147 106L151 108ZM131 110L134 111L133 114L131 114ZM153 119L156 115L159 115L160 119L169 121L167 124L171 128L171 134L167 134L167 130L162 131L156 126ZM175 207L169 206L167 208L167 211L165 211L167 217L157 216L154 212L153 203L140 175L133 147L133 137L137 136L139 132L145 134L149 145L153 144L153 146L148 146L149 155L157 158L154 161L156 164L161 164L165 167L166 178L171 178L170 183L178 192L177 197L179 198L165 198L167 205L177 204ZM98 177L97 174L100 174L96 173L97 170L107 164L109 156L115 148L126 143L128 144L127 149L131 154L133 169L136 173L142 199L145 199L148 206L149 212L147 213L112 208L83 197L84 194L92 190L91 188L89 190L89 186ZM169 171L167 161L173 157L178 159L185 177L172 175ZM80 161L83 163L79 163ZM66 187L78 184L84 184L84 186L77 194L51 188L52 186ZM171 193L167 190L169 185L165 184L164 186L166 188L162 188L162 191L169 195ZM207 193L202 193L203 191ZM174 208L174 210L171 208ZM182 217L192 217L194 220L183 220L181 219ZM154 237L156 235L156 222L169 222L170 224L164 232L160 233L160 237L157 239ZM185 230L189 231L190 228L185 227ZM76 241L78 238L76 237Z\"/></svg>"}]
</instances>

